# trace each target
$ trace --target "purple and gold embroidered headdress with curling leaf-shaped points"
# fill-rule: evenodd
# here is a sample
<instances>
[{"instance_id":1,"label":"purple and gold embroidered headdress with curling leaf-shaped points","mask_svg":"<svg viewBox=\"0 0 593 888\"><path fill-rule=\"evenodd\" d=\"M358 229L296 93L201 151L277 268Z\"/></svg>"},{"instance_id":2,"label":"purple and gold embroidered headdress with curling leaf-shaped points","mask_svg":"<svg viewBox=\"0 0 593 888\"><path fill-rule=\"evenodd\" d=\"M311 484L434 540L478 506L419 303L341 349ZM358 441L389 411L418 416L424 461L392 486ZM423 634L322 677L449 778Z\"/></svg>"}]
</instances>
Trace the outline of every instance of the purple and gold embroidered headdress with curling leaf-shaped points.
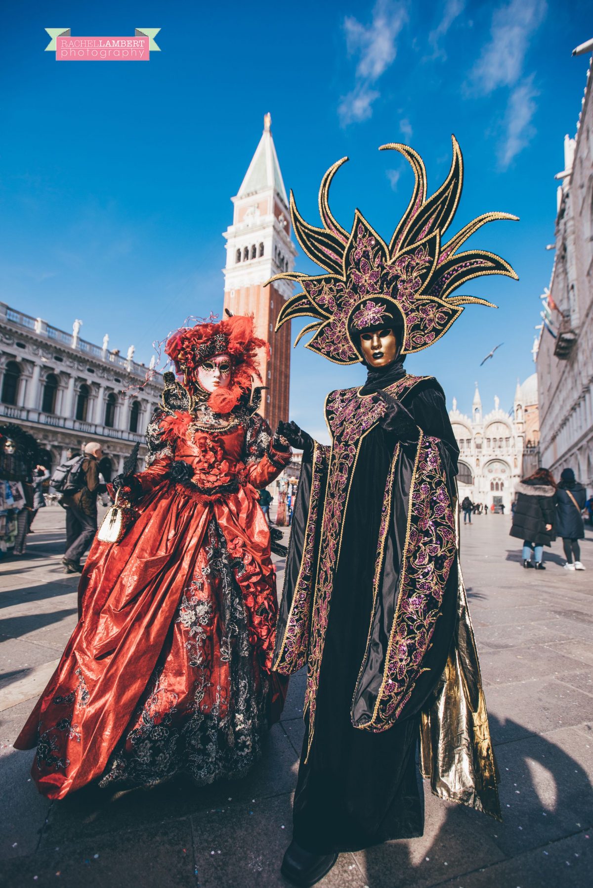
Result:
<instances>
[{"instance_id":1,"label":"purple and gold embroidered headdress with curling leaf-shaped points","mask_svg":"<svg viewBox=\"0 0 593 888\"><path fill-rule=\"evenodd\" d=\"M383 145L380 151L399 151L414 170L414 191L408 209L387 245L355 210L348 234L333 218L328 202L332 178L347 161L343 157L324 175L319 190L319 214L323 228L311 226L300 216L291 192L290 210L300 246L317 265L330 274L277 274L271 281L299 281L303 291L291 297L278 314L276 329L292 318L316 318L301 330L300 337L315 330L307 348L337 364L354 364L360 355L353 344L352 329L381 323L394 306L402 315L402 354L433 345L463 312L465 304L489 305L486 299L451 296L465 281L482 274L506 274L517 280L511 266L485 250L458 250L486 222L517 219L509 213L490 212L473 219L448 242L442 235L455 216L463 186L463 158L455 139L449 176L426 199L426 172L420 155L407 145ZM268 281L268 282L271 282Z\"/></svg>"}]
</instances>

